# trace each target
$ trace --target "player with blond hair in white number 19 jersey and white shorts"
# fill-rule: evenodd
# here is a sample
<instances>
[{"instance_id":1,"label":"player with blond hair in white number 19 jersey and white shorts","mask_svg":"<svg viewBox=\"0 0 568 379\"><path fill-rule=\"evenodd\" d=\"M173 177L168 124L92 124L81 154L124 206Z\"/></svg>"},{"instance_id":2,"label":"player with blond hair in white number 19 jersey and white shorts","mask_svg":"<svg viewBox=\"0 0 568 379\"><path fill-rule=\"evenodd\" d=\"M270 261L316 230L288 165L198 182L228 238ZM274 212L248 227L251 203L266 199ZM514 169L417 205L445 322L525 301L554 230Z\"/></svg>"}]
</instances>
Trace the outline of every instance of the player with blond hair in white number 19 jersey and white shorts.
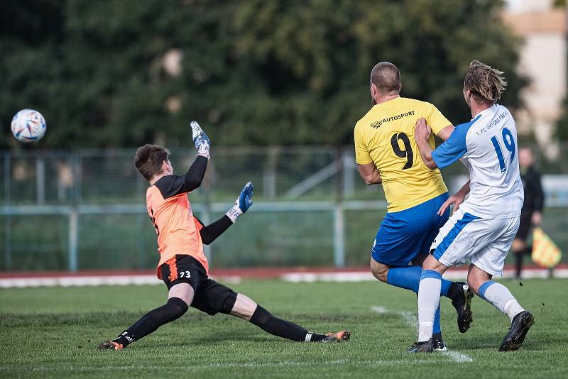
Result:
<instances>
[{"instance_id":1,"label":"player with blond hair in white number 19 jersey and white shorts","mask_svg":"<svg viewBox=\"0 0 568 379\"><path fill-rule=\"evenodd\" d=\"M467 281L471 290L493 304L511 320L499 351L520 348L534 324L510 291L491 280L501 276L503 261L515 238L523 207L519 175L517 128L506 107L496 104L506 82L503 72L472 61L464 80L464 98L471 121L457 126L447 141L434 151L427 143L430 128L424 119L415 126L422 161L432 170L461 160L469 170L469 182L439 209L454 204L454 214L432 243L432 255L422 265L418 287L418 341L409 352L432 351L432 325L439 303L442 274L452 265L469 260ZM465 199L466 194L469 197Z\"/></svg>"}]
</instances>

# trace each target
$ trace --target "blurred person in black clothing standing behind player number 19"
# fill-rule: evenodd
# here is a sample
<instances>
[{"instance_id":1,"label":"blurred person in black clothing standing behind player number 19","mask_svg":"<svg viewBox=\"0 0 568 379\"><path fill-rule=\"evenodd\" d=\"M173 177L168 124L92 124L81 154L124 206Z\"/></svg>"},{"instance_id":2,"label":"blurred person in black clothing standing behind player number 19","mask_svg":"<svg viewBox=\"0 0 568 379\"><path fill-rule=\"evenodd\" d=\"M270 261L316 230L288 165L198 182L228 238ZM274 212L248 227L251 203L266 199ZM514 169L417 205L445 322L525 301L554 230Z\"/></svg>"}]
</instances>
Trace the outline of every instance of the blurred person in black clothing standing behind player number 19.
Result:
<instances>
[{"instance_id":1,"label":"blurred person in black clothing standing behind player number 19","mask_svg":"<svg viewBox=\"0 0 568 379\"><path fill-rule=\"evenodd\" d=\"M542 221L542 207L545 203L544 192L540 182L540 173L533 166L534 157L530 148L519 149L520 177L525 189L525 202L520 212L520 225L517 236L513 240L511 249L515 253L516 277L520 278L520 270L523 266L523 256L532 251L532 246L527 246L526 240L532 226L540 225Z\"/></svg>"}]
</instances>

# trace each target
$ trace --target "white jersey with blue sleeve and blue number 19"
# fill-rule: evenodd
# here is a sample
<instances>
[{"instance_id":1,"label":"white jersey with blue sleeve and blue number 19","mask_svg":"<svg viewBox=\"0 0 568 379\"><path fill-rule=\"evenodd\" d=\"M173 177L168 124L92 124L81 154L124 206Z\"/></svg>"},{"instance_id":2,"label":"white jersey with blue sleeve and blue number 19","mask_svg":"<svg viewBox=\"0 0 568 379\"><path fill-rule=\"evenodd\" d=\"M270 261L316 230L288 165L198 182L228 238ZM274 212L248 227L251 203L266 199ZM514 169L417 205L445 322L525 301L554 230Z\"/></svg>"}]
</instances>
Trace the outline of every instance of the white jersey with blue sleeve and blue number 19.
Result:
<instances>
[{"instance_id":1,"label":"white jersey with blue sleeve and blue number 19","mask_svg":"<svg viewBox=\"0 0 568 379\"><path fill-rule=\"evenodd\" d=\"M432 152L442 169L461 158L469 170L469 197L459 209L484 219L520 215L523 183L520 180L517 128L506 107L494 104L469 123L456 126L452 136Z\"/></svg>"}]
</instances>

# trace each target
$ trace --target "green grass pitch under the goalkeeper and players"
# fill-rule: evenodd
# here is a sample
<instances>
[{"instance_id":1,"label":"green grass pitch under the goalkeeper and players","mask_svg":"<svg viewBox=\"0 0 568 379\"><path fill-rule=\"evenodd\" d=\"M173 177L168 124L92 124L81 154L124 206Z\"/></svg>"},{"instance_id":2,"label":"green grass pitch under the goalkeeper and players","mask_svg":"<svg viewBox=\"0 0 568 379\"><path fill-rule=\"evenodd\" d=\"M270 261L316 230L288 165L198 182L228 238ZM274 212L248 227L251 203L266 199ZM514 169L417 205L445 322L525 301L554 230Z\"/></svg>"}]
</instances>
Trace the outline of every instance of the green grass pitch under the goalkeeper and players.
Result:
<instances>
[{"instance_id":1,"label":"green grass pitch under the goalkeeper and players","mask_svg":"<svg viewBox=\"0 0 568 379\"><path fill-rule=\"evenodd\" d=\"M516 352L498 353L509 322L490 304L475 297L474 323L459 334L454 309L442 300L444 340L450 350L471 358L466 362L443 353L405 353L416 331L400 312L415 314L416 296L379 282L267 280L231 286L307 329L351 330L351 341L342 344L295 343L235 317L190 309L119 352L99 351L97 344L163 304L164 286L0 290L0 377L567 377L568 281L503 283L535 314ZM388 312L378 314L373 306Z\"/></svg>"}]
</instances>

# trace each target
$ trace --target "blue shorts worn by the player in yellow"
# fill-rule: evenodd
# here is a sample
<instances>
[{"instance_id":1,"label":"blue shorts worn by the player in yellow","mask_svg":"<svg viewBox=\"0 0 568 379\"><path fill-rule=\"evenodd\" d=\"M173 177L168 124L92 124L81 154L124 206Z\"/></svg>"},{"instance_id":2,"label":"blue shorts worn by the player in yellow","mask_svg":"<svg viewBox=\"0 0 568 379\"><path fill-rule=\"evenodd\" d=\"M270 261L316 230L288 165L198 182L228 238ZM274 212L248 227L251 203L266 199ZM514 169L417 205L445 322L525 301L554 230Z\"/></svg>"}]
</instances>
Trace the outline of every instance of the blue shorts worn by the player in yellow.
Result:
<instances>
[{"instance_id":1,"label":"blue shorts worn by the player in yellow","mask_svg":"<svg viewBox=\"0 0 568 379\"><path fill-rule=\"evenodd\" d=\"M400 212L387 213L377 231L371 256L378 263L405 266L419 254L430 252L439 229L449 218L449 207L438 216L447 192Z\"/></svg>"}]
</instances>

